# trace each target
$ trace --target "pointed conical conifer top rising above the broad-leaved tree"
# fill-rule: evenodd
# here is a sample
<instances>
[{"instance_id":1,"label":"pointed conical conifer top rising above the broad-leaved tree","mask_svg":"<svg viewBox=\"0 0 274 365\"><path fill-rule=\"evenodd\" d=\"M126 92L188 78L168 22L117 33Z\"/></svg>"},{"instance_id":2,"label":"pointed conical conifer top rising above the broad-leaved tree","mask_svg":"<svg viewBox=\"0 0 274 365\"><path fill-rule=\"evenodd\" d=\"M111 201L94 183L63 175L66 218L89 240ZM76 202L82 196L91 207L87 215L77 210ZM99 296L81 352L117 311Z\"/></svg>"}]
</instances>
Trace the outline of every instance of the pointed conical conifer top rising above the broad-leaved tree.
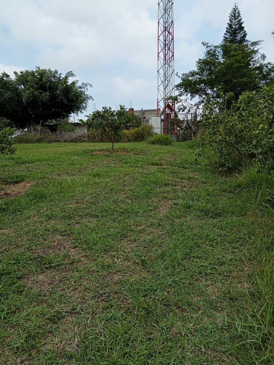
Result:
<instances>
[{"instance_id":1,"label":"pointed conical conifer top rising above the broad-leaved tree","mask_svg":"<svg viewBox=\"0 0 274 365\"><path fill-rule=\"evenodd\" d=\"M229 15L229 22L225 31L224 40L230 43L245 43L247 41L247 32L243 26L244 22L241 17L240 9L235 3Z\"/></svg>"}]
</instances>

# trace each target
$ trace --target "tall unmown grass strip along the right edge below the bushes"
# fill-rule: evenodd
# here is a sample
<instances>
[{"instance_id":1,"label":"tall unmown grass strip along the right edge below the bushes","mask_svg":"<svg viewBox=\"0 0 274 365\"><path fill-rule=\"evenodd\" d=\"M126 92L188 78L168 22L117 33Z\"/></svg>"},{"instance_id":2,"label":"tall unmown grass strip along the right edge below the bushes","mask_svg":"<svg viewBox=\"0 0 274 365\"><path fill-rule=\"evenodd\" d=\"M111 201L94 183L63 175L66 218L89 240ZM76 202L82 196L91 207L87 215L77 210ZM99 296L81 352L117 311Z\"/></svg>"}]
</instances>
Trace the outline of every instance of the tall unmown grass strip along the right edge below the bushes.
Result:
<instances>
[{"instance_id":1,"label":"tall unmown grass strip along the right edge below the bushes","mask_svg":"<svg viewBox=\"0 0 274 365\"><path fill-rule=\"evenodd\" d=\"M253 292L247 295L250 311L235 319L235 336L240 342L233 351L238 354L240 347L250 351L237 364L266 365L274 364L273 174L257 171L256 165L247 164L235 178L237 187L244 191L247 212L254 217L254 254L259 265L252 270Z\"/></svg>"}]
</instances>

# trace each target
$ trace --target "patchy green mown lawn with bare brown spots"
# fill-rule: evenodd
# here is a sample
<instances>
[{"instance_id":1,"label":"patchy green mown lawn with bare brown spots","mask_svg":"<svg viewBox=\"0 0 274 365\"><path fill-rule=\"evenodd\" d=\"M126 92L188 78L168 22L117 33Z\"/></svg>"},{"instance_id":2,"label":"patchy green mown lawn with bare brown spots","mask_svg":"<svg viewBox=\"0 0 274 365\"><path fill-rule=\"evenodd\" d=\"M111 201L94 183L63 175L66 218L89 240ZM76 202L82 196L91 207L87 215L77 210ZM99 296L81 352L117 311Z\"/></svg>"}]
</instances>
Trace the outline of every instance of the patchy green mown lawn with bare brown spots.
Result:
<instances>
[{"instance_id":1,"label":"patchy green mown lawn with bare brown spots","mask_svg":"<svg viewBox=\"0 0 274 365\"><path fill-rule=\"evenodd\" d=\"M271 213L188 143L115 148L0 158L0 364L274 364Z\"/></svg>"}]
</instances>

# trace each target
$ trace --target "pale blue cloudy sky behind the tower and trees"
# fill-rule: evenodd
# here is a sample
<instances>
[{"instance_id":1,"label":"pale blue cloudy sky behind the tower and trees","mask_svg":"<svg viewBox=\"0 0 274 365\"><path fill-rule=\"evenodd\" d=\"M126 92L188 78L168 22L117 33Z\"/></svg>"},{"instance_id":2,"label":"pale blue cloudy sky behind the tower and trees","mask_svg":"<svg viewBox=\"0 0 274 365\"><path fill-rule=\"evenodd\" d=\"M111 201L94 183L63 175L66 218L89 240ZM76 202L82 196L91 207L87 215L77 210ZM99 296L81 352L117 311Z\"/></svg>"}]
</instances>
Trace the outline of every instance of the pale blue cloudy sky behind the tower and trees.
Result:
<instances>
[{"instance_id":1,"label":"pale blue cloudy sky behind the tower and trees","mask_svg":"<svg viewBox=\"0 0 274 365\"><path fill-rule=\"evenodd\" d=\"M221 41L235 0L174 0L175 68L186 72L202 41ZM72 70L96 107L155 108L157 0L0 0L0 72ZM250 40L274 62L274 1L239 0ZM93 111L91 101L88 112Z\"/></svg>"}]
</instances>

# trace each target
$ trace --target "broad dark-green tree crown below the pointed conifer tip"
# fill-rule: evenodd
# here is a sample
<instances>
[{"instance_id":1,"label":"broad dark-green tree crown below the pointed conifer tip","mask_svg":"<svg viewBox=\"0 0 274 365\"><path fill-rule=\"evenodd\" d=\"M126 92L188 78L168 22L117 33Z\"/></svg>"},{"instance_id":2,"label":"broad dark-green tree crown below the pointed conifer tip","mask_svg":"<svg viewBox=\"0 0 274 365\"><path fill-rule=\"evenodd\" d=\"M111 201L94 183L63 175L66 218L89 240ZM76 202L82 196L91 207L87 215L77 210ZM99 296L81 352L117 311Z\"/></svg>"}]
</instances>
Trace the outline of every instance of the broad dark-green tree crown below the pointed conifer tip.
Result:
<instances>
[{"instance_id":1,"label":"broad dark-green tree crown below the pointed conifer tip","mask_svg":"<svg viewBox=\"0 0 274 365\"><path fill-rule=\"evenodd\" d=\"M260 54L260 43L203 43L205 54L196 62L196 69L180 76L179 97L196 98L197 105L201 105L209 97L216 100L221 88L224 93L232 92L231 99L237 100L244 91L254 91L273 81L274 65Z\"/></svg>"}]
</instances>

